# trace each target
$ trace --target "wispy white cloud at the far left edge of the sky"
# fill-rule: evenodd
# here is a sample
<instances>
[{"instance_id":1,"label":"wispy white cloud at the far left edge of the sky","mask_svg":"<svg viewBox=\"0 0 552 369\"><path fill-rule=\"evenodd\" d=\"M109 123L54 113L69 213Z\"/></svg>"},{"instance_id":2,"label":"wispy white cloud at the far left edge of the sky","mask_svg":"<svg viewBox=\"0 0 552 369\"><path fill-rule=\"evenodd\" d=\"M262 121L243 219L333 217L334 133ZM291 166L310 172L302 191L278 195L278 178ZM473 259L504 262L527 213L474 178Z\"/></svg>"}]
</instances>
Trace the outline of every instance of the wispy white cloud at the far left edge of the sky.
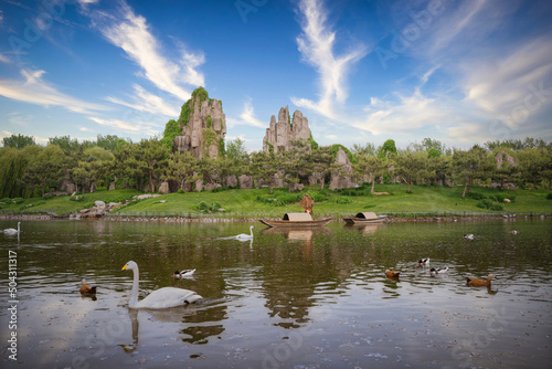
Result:
<instances>
[{"instance_id":1,"label":"wispy white cloud at the far left edge of the sky","mask_svg":"<svg viewBox=\"0 0 552 369\"><path fill-rule=\"evenodd\" d=\"M107 110L107 107L84 102L57 91L45 82L42 76L44 71L20 71L23 81L0 80L0 95L42 106L60 106L70 112L89 114L95 110Z\"/></svg>"}]
</instances>

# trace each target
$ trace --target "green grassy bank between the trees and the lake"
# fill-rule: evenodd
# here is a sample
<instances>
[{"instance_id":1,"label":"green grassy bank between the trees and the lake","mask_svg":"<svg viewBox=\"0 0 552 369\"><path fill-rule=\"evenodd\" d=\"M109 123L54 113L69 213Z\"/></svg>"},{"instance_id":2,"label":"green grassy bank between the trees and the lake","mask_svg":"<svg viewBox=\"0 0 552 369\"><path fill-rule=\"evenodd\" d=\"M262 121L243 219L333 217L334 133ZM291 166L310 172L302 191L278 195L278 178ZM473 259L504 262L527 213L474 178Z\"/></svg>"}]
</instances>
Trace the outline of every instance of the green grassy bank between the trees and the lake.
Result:
<instances>
[{"instance_id":1,"label":"green grassy bank between the trees and the lake","mask_svg":"<svg viewBox=\"0 0 552 369\"><path fill-rule=\"evenodd\" d=\"M286 189L238 190L227 189L214 192L170 193L145 200L132 200L140 194L136 190L102 191L82 194L78 201L70 196L51 199L17 199L0 204L0 214L68 214L91 208L94 201L121 202L132 200L128 205L110 213L119 217L183 217L183 218L280 218L286 212L300 212L298 201L308 192L315 199L315 217L351 215L359 211L373 211L395 217L411 215L485 215L485 214L552 214L552 200L544 190L507 190L474 187L475 198L461 199L463 187L414 186L406 192L403 184L380 184L376 191L389 194L373 196L367 187L340 191L320 191L309 187L301 192ZM473 196L474 197L474 196ZM487 198L487 199L485 199ZM512 199L511 203L497 200ZM481 208L493 205L491 210ZM478 207L479 204L479 207Z\"/></svg>"}]
</instances>

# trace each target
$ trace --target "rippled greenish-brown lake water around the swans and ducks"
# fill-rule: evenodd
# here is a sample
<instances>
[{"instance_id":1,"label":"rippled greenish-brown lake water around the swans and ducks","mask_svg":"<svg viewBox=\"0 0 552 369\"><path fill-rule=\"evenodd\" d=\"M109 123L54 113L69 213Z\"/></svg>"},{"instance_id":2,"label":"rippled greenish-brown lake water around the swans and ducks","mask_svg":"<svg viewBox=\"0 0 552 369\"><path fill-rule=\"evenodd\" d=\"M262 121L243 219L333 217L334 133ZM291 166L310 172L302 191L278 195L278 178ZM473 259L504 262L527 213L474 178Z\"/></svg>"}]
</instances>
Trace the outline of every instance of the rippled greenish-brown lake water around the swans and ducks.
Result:
<instances>
[{"instance_id":1,"label":"rippled greenish-brown lake water around the swans and ducks","mask_svg":"<svg viewBox=\"0 0 552 369\"><path fill-rule=\"evenodd\" d=\"M223 239L250 225L252 242ZM0 220L6 228L17 221ZM307 230L23 221L19 239L0 233L0 247L3 368L552 367L550 219ZM173 286L203 302L129 309L128 261L140 298ZM183 268L197 271L171 277ZM487 275L490 287L466 285ZM79 294L83 278L95 296Z\"/></svg>"}]
</instances>

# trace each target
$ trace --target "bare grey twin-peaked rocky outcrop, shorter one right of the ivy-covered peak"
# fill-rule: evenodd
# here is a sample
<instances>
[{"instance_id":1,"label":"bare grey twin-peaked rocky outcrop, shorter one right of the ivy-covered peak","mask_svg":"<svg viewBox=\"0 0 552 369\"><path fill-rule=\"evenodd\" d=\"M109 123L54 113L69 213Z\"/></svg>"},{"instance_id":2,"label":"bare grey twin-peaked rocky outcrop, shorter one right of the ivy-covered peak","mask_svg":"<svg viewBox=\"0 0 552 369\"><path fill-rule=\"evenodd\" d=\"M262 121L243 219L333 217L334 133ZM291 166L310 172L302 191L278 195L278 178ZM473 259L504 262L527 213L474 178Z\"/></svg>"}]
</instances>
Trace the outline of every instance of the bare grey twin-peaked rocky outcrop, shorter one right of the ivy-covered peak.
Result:
<instances>
[{"instance_id":1,"label":"bare grey twin-peaked rocky outcrop, shorter one right of the ivy-covered peak","mask_svg":"<svg viewBox=\"0 0 552 369\"><path fill-rule=\"evenodd\" d=\"M269 127L266 128L265 137L263 138L263 151L274 152L286 151L291 148L294 140L307 140L311 137L307 117L302 113L295 110L293 119L289 117L288 107L283 107L278 113L278 122L273 115L270 117Z\"/></svg>"}]
</instances>

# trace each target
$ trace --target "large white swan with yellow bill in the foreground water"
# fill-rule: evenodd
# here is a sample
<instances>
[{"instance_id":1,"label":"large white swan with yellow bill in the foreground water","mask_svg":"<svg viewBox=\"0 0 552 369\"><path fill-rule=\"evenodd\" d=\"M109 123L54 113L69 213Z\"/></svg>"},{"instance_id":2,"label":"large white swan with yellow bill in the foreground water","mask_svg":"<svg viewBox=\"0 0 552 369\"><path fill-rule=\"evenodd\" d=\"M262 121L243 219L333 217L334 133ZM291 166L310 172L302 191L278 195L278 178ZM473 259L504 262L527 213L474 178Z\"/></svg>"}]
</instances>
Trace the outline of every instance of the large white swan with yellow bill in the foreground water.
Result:
<instances>
[{"instance_id":1,"label":"large white swan with yellow bill in the foreground water","mask_svg":"<svg viewBox=\"0 0 552 369\"><path fill-rule=\"evenodd\" d=\"M128 302L128 306L130 308L168 308L192 304L203 298L190 289L163 287L153 291L141 301L138 301L138 264L130 261L121 268L121 271L127 270L130 270L134 273L132 292L130 293L130 301Z\"/></svg>"}]
</instances>

